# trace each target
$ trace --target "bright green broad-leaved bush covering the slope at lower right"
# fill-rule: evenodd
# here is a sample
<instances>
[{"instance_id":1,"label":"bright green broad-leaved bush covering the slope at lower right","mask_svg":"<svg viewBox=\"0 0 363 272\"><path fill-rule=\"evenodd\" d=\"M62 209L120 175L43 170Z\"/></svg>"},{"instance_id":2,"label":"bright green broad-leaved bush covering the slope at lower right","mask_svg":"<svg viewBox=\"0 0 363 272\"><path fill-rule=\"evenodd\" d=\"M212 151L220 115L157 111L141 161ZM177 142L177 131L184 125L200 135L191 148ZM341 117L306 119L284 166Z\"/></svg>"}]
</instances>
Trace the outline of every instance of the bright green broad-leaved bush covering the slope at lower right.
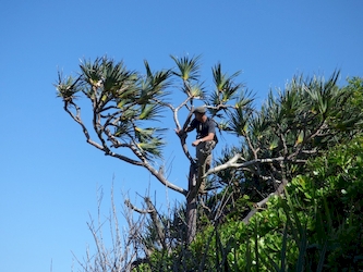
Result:
<instances>
[{"instance_id":1,"label":"bright green broad-leaved bush covering the slope at lower right","mask_svg":"<svg viewBox=\"0 0 363 272\"><path fill-rule=\"evenodd\" d=\"M362 137L335 147L249 224L233 218L206 228L190 248L204 260L198 271L363 269L362 153Z\"/></svg>"}]
</instances>

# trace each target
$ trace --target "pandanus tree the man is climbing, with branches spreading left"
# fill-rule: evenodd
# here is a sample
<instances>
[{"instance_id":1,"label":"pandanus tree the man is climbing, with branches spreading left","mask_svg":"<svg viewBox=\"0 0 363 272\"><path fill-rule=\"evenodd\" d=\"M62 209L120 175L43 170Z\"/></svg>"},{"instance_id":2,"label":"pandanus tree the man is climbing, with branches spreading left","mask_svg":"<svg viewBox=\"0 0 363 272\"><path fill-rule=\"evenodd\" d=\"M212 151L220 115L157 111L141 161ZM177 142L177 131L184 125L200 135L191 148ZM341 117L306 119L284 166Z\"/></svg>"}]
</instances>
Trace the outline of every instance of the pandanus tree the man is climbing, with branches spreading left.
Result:
<instances>
[{"instance_id":1,"label":"pandanus tree the man is climbing, with branches spreading left","mask_svg":"<svg viewBox=\"0 0 363 272\"><path fill-rule=\"evenodd\" d=\"M77 76L63 77L59 73L57 90L63 100L65 112L81 126L89 145L106 156L146 169L166 187L185 196L185 240L191 243L196 233L195 161L187 149L185 136L179 136L183 153L190 160L186 169L190 166L191 174L185 187L179 187L168 180L165 171L159 170L158 162L167 145L164 133L170 127L164 127L166 122L157 121L169 116L174 127L185 128L193 114L194 101L202 100L223 129L228 113L232 114L231 111L235 109L241 113L250 111L252 99L244 92L241 84L234 83L238 73L229 76L222 73L221 65L217 64L213 67L215 87L206 90L199 78L201 57L171 58L177 64L174 70L154 72L145 61L144 73L131 71L122 61L114 62L106 57L83 61ZM173 78L179 82L172 81ZM174 98L177 91L184 97L178 95L181 101L174 106L171 97ZM85 121L82 118L78 102L81 97L90 102L90 114L86 114L90 120ZM189 112L186 119L179 114L185 109ZM128 203L132 207L132 203ZM156 222L158 219L152 210L155 227L160 227L161 224ZM157 231L160 235L162 232ZM164 242L160 245L166 247Z\"/></svg>"}]
</instances>

